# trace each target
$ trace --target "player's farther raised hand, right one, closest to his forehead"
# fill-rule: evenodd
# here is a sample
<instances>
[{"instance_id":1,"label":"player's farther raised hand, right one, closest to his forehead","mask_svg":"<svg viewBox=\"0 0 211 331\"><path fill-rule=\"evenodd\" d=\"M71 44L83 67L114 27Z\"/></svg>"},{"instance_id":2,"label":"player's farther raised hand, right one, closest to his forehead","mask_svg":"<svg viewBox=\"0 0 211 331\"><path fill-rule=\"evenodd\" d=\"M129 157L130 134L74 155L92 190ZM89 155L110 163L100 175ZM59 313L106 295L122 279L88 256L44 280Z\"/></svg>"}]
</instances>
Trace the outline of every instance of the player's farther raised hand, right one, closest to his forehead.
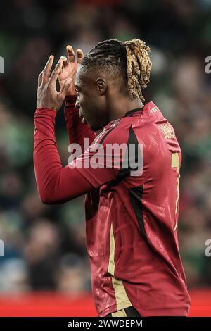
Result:
<instances>
[{"instance_id":1,"label":"player's farther raised hand, right one, closest to his forehead","mask_svg":"<svg viewBox=\"0 0 211 331\"><path fill-rule=\"evenodd\" d=\"M66 49L67 49L68 58L66 56L61 56L61 59L63 60L63 68L60 72L60 75L58 75L58 81L60 87L63 87L65 80L67 80L68 78L72 78L72 82L70 83L70 87L66 94L66 96L69 96L69 95L76 95L75 87L74 87L75 73L79 63L82 62L82 58L84 57L84 54L81 49L77 49L77 61L75 61L75 52L72 49L72 46L68 45Z\"/></svg>"}]
</instances>

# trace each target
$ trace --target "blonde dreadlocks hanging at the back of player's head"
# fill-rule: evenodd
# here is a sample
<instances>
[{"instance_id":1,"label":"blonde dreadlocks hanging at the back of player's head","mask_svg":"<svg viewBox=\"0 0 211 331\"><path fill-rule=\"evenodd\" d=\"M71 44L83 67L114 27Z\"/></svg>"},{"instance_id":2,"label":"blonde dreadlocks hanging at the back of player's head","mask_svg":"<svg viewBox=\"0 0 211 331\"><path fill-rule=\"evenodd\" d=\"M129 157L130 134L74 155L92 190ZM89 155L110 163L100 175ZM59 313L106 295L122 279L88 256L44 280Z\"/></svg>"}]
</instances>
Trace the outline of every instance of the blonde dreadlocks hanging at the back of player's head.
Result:
<instances>
[{"instance_id":1,"label":"blonde dreadlocks hanging at the back of player's head","mask_svg":"<svg viewBox=\"0 0 211 331\"><path fill-rule=\"evenodd\" d=\"M151 49L140 39L124 42L127 51L127 83L129 94L144 101L141 88L145 89L150 80L152 63L148 52Z\"/></svg>"}]
</instances>

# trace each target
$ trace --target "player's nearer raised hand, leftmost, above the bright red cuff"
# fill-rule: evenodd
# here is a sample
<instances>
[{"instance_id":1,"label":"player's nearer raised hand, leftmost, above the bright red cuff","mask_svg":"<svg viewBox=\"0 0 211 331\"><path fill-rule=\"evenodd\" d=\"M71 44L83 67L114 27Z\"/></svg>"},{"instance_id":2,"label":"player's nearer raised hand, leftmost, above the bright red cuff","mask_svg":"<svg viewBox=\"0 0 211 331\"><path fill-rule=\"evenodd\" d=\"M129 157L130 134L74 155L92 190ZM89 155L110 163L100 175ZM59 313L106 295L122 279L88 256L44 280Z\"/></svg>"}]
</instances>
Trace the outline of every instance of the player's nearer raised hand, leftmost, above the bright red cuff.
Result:
<instances>
[{"instance_id":1,"label":"player's nearer raised hand, leftmost, above the bright red cuff","mask_svg":"<svg viewBox=\"0 0 211 331\"><path fill-rule=\"evenodd\" d=\"M63 104L72 78L68 77L63 80L60 91L56 91L56 80L58 80L58 75L62 70L63 59L59 59L55 69L51 73L53 58L52 55L49 57L44 70L42 70L38 77L37 108L49 108L58 111Z\"/></svg>"}]
</instances>

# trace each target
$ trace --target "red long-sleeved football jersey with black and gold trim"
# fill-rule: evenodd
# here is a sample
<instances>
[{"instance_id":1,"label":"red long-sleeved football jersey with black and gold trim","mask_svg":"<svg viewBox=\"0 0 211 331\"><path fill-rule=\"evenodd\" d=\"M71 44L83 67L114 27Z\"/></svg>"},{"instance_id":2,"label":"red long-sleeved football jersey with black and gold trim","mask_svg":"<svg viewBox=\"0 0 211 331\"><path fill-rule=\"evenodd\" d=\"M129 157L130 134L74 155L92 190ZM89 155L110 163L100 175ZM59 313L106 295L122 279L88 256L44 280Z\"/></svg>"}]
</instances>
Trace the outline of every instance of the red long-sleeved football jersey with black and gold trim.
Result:
<instances>
[{"instance_id":1,"label":"red long-sleeved football jersey with black and gold trim","mask_svg":"<svg viewBox=\"0 0 211 331\"><path fill-rule=\"evenodd\" d=\"M56 111L39 108L34 114L34 170L47 204L87 193L87 251L98 315L133 305L141 316L186 316L190 297L177 237L181 150L172 125L150 102L96 135L78 118L74 101L70 98L65 108L70 142L83 145L82 139L89 137L89 149L63 168L54 131ZM100 166L85 166L99 143ZM139 146L128 154L129 161L141 164L135 175L130 166L122 166L123 151L108 152L110 144Z\"/></svg>"}]
</instances>

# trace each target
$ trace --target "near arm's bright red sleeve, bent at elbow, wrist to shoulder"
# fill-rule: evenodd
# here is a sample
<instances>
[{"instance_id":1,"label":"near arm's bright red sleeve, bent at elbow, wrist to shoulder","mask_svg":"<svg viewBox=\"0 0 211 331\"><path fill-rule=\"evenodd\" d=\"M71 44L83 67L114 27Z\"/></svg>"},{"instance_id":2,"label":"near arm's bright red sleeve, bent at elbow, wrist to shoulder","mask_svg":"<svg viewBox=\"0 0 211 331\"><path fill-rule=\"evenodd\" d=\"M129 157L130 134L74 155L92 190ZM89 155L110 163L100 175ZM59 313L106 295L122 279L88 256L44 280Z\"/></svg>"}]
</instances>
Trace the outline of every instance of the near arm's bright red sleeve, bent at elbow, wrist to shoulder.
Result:
<instances>
[{"instance_id":1,"label":"near arm's bright red sleeve, bent at elbow, wrist to shoulder","mask_svg":"<svg viewBox=\"0 0 211 331\"><path fill-rule=\"evenodd\" d=\"M113 128L108 128L84 154L63 167L56 145L55 118L56 111L51 109L39 108L34 113L34 172L40 199L45 204L63 203L115 180L123 155L122 152L115 158L115 153L107 151L115 137L117 144L122 139Z\"/></svg>"}]
</instances>

